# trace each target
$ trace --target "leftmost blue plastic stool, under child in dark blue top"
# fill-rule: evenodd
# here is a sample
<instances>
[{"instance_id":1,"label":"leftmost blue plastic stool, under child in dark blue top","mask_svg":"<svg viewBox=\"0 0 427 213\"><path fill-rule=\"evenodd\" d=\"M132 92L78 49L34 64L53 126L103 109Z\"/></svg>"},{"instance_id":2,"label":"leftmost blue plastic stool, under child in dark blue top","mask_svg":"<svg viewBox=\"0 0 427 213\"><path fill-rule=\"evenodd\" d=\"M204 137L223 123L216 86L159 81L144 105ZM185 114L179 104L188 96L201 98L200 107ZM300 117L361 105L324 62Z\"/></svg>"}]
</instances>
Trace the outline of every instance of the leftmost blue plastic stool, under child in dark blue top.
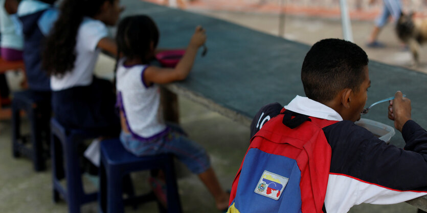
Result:
<instances>
[{"instance_id":1,"label":"leftmost blue plastic stool, under child in dark blue top","mask_svg":"<svg viewBox=\"0 0 427 213\"><path fill-rule=\"evenodd\" d=\"M30 120L31 147L27 147L27 137L20 132L20 112L24 111ZM33 160L34 170L46 169L49 157L51 118L51 93L30 90L15 92L12 99L12 154L21 154ZM44 142L44 144L43 144ZM44 147L43 147L44 145Z\"/></svg>"}]
</instances>

